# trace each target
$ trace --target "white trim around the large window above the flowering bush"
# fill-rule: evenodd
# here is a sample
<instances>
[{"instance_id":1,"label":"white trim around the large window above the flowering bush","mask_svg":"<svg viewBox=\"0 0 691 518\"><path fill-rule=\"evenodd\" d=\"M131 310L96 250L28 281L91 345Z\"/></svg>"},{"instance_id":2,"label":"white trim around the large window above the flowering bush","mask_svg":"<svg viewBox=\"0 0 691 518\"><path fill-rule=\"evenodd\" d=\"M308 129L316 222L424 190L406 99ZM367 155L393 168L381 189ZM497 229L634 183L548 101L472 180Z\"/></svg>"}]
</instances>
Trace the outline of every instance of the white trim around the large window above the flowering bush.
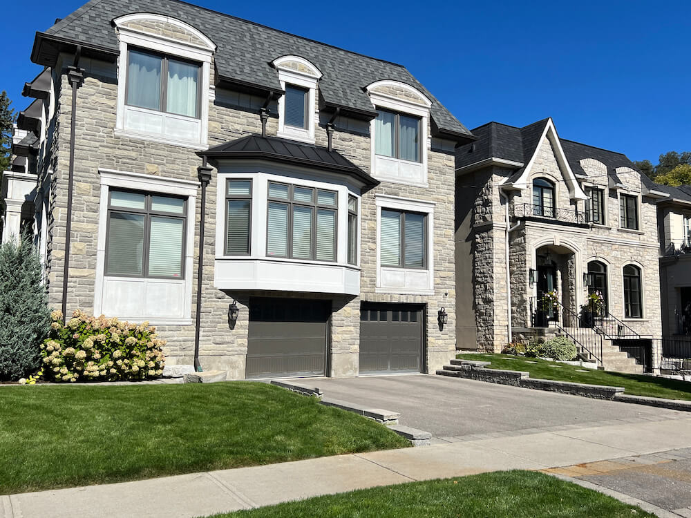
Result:
<instances>
[{"instance_id":1,"label":"white trim around the large window above the flowering bush","mask_svg":"<svg viewBox=\"0 0 691 518\"><path fill-rule=\"evenodd\" d=\"M164 280L160 282L184 283L183 314L179 318L147 318L142 315L140 320L149 320L151 325L191 325L192 310L192 278L194 262L194 231L196 214L196 197L199 182L190 180L176 180L161 178L160 176L99 169L101 180L101 197L99 206L98 240L96 252L96 280L94 287L94 315L102 314L104 294L104 267L106 260L106 229L108 224L108 194L115 189L135 189L153 194L171 194L187 196L187 235L185 236L184 279ZM126 280L127 278L120 277ZM140 278L136 280L141 280ZM108 315L117 316L117 315Z\"/></svg>"}]
</instances>

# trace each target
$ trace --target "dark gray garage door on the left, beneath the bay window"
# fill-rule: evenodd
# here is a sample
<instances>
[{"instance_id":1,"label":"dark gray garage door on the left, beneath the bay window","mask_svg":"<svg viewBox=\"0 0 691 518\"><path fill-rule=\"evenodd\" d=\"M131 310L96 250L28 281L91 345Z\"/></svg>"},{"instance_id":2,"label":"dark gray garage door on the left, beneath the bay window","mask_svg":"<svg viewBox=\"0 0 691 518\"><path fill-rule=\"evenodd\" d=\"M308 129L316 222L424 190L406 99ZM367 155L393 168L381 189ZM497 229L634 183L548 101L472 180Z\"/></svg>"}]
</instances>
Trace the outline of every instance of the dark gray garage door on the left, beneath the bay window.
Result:
<instances>
[{"instance_id":1,"label":"dark gray garage door on the left, beneath the bay window","mask_svg":"<svg viewBox=\"0 0 691 518\"><path fill-rule=\"evenodd\" d=\"M323 376L331 303L251 298L247 378Z\"/></svg>"}]
</instances>

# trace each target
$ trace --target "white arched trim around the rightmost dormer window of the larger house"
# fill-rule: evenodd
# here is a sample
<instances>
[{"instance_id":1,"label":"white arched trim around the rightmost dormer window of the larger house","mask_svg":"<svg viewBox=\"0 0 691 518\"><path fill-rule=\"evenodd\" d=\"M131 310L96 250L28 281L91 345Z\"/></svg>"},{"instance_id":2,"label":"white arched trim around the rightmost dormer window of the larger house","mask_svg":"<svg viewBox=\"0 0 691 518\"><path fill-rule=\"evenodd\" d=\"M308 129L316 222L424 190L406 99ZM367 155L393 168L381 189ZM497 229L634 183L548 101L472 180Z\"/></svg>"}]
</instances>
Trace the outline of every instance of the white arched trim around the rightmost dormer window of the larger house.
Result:
<instances>
[{"instance_id":1,"label":"white arched trim around the rightmost dormer window of the larger house","mask_svg":"<svg viewBox=\"0 0 691 518\"><path fill-rule=\"evenodd\" d=\"M426 106L423 106L422 104L417 104L414 102L408 102L405 101L404 99L399 99L398 97L392 97L390 95L385 95L382 93L377 93L377 92L372 92L372 88L377 88L377 86L397 86L399 88L404 88L411 93L414 93L417 95L425 104ZM422 120L420 122L420 140L421 142L421 150L420 153L422 153L422 156L420 157L421 160L420 162L410 162L408 160L401 160L397 158L392 158L392 157L386 157L387 160L390 161L397 161L399 164L410 164L412 166L422 166L422 181L421 182L408 182L405 180L401 180L400 178L393 178L390 175L386 175L381 173L381 171L377 171L377 153L375 153L375 139L377 135L375 135L376 131L376 125L377 125L377 119L372 119L370 121L370 141L372 142L371 148L372 148L372 157L371 157L371 171L372 171L372 176L377 178L377 180L385 180L386 182L394 183L394 184L403 184L403 185L414 185L414 186L419 186L419 187L427 187L428 186L428 181L427 181L427 161L428 161L428 152L432 144L432 138L429 133L429 120L430 120L430 106L432 106L432 103L430 102L427 97L422 95L421 92L413 88L412 86L409 86L405 83L399 83L399 81L377 81L376 83L370 84L370 86L367 87L368 94L370 96L370 101L372 104L375 106L375 108L384 108L387 110L395 111L397 113L403 113L404 115L414 115L415 117L420 117Z\"/></svg>"}]
</instances>

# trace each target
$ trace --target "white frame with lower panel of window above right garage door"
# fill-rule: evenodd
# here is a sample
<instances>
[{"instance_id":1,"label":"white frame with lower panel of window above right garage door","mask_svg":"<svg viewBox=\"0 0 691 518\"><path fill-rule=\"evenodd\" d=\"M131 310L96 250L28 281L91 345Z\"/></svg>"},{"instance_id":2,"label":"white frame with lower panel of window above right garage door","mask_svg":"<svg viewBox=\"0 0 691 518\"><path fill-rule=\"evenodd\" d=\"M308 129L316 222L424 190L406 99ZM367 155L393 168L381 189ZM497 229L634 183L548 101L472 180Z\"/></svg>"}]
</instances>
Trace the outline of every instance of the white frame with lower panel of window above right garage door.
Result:
<instances>
[{"instance_id":1,"label":"white frame with lower panel of window above right garage door","mask_svg":"<svg viewBox=\"0 0 691 518\"><path fill-rule=\"evenodd\" d=\"M377 206L377 283L375 292L381 294L434 295L434 209L435 203L425 200L375 195ZM381 265L381 210L426 214L426 269L383 267Z\"/></svg>"}]
</instances>

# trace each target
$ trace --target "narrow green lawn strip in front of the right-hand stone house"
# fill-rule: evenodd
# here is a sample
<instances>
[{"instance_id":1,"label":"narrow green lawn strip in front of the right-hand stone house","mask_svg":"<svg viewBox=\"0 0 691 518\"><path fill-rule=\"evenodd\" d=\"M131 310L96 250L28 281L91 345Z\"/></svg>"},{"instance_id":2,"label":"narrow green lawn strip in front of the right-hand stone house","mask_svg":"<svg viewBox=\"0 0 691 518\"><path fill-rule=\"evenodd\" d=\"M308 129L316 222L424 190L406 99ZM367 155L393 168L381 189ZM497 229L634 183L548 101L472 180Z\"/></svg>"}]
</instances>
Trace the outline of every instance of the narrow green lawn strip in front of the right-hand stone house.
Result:
<instances>
[{"instance_id":1,"label":"narrow green lawn strip in front of the right-hand stone house","mask_svg":"<svg viewBox=\"0 0 691 518\"><path fill-rule=\"evenodd\" d=\"M459 354L457 358L461 360L490 361L492 365L488 367L491 369L529 372L531 378L574 381L590 385L612 385L614 387L624 387L624 393L632 396L651 396L691 401L691 383L688 381L602 370L579 372L586 369L538 358L513 356L512 354Z\"/></svg>"}]
</instances>

